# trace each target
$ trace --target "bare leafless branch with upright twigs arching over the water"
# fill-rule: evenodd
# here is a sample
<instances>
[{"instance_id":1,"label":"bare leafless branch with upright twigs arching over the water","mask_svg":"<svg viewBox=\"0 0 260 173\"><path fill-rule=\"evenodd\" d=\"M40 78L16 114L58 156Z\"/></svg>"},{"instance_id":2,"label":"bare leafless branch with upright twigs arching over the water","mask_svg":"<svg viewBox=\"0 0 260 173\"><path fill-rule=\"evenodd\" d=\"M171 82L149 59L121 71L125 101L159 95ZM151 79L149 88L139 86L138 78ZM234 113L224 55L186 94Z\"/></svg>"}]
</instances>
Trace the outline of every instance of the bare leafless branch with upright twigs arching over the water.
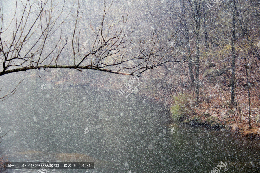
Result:
<instances>
[{"instance_id":1,"label":"bare leafless branch with upright twigs arching over the water","mask_svg":"<svg viewBox=\"0 0 260 173\"><path fill-rule=\"evenodd\" d=\"M129 40L134 29L125 31L127 16L122 16L118 21L108 18L112 3L107 7L104 2L100 26L94 28L90 25L94 35L91 38L92 44L83 45L82 43L86 40L81 37L81 29L86 23L82 23L83 20L81 20L84 16L80 12L80 4L77 3L77 10L73 12L74 2L68 13L64 13L64 4L65 0L62 5L56 3L55 0L38 2L37 7L40 7L40 11L36 12L35 4L27 1L23 4L21 14L15 11L7 28L3 25L6 23L4 10L3 8L0 10L0 76L32 69L50 68L79 71L91 69L138 76L148 69L167 62L187 60L187 57L178 59L176 54L173 54L173 50L167 48L174 34L166 42L161 42L157 35L153 35L149 40L142 38L137 42ZM68 17L70 14L73 16L71 20ZM74 22L74 30L71 32L71 37L64 39L62 26L68 22ZM12 34L9 41L3 39L5 33ZM68 44L69 41L71 45ZM67 48L65 46L72 49L73 55L66 57L70 61L64 61L64 56L68 56L64 55Z\"/></svg>"}]
</instances>

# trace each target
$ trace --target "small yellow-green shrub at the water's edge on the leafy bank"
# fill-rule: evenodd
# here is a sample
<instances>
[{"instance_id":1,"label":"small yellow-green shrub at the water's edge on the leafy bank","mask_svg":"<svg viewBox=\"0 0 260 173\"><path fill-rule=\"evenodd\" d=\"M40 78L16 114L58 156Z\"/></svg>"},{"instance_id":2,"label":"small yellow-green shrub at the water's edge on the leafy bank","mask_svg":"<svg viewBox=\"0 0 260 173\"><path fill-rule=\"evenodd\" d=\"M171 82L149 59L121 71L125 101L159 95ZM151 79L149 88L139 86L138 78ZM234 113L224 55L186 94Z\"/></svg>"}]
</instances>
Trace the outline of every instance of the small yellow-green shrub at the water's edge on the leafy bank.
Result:
<instances>
[{"instance_id":1,"label":"small yellow-green shrub at the water's edge on the leafy bank","mask_svg":"<svg viewBox=\"0 0 260 173\"><path fill-rule=\"evenodd\" d=\"M172 119L180 120L192 114L192 99L187 94L179 94L172 97L174 105L170 108Z\"/></svg>"}]
</instances>

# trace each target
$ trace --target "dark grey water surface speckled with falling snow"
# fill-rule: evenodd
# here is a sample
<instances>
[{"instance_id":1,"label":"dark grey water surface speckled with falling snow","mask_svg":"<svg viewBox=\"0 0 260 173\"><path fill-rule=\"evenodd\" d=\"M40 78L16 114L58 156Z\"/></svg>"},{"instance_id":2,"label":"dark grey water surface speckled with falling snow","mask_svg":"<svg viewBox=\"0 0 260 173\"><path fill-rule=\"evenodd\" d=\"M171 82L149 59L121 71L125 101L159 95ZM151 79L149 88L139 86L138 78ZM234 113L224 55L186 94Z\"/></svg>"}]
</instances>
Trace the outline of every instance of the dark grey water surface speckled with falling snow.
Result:
<instances>
[{"instance_id":1,"label":"dark grey water surface speckled with falling snow","mask_svg":"<svg viewBox=\"0 0 260 173\"><path fill-rule=\"evenodd\" d=\"M3 133L11 129L2 138L0 154L12 162L81 161L95 166L54 173L208 173L222 161L226 173L260 172L256 140L186 125L177 125L171 134L169 110L138 94L125 99L93 86L43 91L40 86L24 84L12 99L0 103L0 126Z\"/></svg>"}]
</instances>

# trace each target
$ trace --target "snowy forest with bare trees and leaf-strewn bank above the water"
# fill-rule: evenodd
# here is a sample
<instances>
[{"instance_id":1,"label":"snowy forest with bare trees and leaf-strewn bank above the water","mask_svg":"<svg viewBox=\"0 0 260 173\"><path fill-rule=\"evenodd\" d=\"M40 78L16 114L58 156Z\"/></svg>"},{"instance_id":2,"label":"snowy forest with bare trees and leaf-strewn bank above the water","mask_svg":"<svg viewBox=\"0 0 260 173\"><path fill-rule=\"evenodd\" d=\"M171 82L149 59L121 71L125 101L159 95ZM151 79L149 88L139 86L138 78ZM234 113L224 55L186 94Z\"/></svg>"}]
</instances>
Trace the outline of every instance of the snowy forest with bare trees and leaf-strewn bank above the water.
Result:
<instances>
[{"instance_id":1,"label":"snowy forest with bare trees and leaf-strewn bank above the water","mask_svg":"<svg viewBox=\"0 0 260 173\"><path fill-rule=\"evenodd\" d=\"M0 5L0 103L15 100L25 91L23 83L37 85L37 92L28 89L37 97L59 87L92 88L109 94L96 112L110 102L141 97L168 111L168 129L188 125L259 141L259 1L17 0ZM33 117L32 122L41 119ZM11 131L5 128L0 136Z\"/></svg>"}]
</instances>

